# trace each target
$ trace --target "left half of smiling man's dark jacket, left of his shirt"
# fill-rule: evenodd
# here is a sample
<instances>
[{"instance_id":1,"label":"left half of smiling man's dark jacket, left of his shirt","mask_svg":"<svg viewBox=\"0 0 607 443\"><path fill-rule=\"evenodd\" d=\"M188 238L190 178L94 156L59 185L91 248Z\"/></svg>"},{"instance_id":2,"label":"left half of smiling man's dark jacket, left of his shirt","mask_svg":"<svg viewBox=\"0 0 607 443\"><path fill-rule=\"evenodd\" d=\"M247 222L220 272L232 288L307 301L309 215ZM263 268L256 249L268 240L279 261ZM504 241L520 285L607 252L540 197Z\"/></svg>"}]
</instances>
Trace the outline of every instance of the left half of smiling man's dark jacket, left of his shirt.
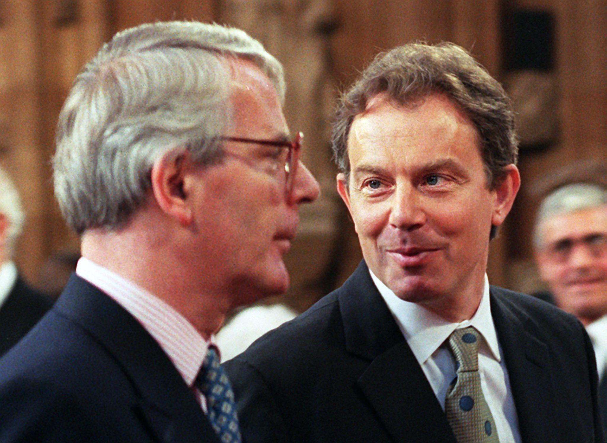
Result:
<instances>
[{"instance_id":1,"label":"left half of smiling man's dark jacket, left of his shirt","mask_svg":"<svg viewBox=\"0 0 607 443\"><path fill-rule=\"evenodd\" d=\"M225 368L249 443L455 442L364 263Z\"/></svg>"}]
</instances>

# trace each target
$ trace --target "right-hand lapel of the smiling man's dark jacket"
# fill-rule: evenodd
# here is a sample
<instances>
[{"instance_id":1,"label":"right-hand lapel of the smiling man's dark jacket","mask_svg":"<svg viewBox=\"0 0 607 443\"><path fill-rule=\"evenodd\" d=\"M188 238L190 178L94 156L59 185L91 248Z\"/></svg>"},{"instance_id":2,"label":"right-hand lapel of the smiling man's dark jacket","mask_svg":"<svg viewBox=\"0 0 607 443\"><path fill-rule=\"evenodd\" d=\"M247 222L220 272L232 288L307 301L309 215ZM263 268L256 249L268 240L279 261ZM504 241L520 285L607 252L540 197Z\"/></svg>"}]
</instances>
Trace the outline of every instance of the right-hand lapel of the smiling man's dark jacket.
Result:
<instances>
[{"instance_id":1,"label":"right-hand lapel of the smiling man's dark jacket","mask_svg":"<svg viewBox=\"0 0 607 443\"><path fill-rule=\"evenodd\" d=\"M514 303L491 287L491 313L498 340L506 360L510 389L517 408L518 426L523 441L558 441L549 408L554 404L554 386L545 365L548 347L529 332L529 318Z\"/></svg>"}]
</instances>

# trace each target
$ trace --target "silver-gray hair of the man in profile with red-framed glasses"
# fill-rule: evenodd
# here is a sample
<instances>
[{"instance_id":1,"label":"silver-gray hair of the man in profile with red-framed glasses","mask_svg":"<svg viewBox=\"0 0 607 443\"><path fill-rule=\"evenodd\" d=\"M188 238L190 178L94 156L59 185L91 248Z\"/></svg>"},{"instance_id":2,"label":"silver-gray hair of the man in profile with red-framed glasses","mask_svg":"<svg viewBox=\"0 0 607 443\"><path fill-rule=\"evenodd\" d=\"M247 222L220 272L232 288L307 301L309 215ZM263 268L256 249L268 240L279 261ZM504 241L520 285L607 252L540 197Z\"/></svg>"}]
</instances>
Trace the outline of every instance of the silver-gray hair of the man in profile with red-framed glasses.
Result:
<instances>
[{"instance_id":1,"label":"silver-gray hair of the man in profile with red-framed glasses","mask_svg":"<svg viewBox=\"0 0 607 443\"><path fill-rule=\"evenodd\" d=\"M68 225L118 229L146 201L154 161L211 163L231 124L226 59L253 61L284 100L280 63L239 29L158 22L118 33L76 76L59 115L55 195Z\"/></svg>"}]
</instances>

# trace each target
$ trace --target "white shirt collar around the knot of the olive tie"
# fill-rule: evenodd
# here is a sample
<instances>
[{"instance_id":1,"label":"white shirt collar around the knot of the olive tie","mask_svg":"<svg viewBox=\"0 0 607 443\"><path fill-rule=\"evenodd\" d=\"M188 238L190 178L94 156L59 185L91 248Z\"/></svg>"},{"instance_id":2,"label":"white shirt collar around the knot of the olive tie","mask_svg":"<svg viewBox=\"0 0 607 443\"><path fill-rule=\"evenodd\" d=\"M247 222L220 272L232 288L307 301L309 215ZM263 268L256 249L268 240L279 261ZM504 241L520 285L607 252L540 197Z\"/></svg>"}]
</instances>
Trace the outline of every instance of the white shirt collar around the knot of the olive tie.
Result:
<instances>
[{"instance_id":1,"label":"white shirt collar around the knot of the olive tie","mask_svg":"<svg viewBox=\"0 0 607 443\"><path fill-rule=\"evenodd\" d=\"M493 359L501 361L497 333L491 316L487 274L484 278L483 297L472 319L451 323L417 303L399 299L370 269L369 272L420 365L443 345L453 331L467 326L474 326L483 336L483 342L486 344L481 343L480 352L488 351Z\"/></svg>"}]
</instances>

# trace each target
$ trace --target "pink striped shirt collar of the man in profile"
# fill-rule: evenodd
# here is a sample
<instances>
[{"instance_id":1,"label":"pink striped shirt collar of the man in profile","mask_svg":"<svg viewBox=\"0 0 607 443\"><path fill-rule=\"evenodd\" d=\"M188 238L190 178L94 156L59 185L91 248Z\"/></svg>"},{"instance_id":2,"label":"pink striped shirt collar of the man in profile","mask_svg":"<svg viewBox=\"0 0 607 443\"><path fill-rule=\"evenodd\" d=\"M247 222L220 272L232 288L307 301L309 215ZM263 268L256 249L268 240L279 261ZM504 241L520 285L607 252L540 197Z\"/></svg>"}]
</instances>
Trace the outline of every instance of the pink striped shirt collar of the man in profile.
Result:
<instances>
[{"instance_id":1,"label":"pink striped shirt collar of the man in profile","mask_svg":"<svg viewBox=\"0 0 607 443\"><path fill-rule=\"evenodd\" d=\"M141 323L171 359L186 385L197 393L206 412L205 397L193 384L210 342L171 305L115 272L83 257L78 260L76 274L101 289Z\"/></svg>"}]
</instances>

